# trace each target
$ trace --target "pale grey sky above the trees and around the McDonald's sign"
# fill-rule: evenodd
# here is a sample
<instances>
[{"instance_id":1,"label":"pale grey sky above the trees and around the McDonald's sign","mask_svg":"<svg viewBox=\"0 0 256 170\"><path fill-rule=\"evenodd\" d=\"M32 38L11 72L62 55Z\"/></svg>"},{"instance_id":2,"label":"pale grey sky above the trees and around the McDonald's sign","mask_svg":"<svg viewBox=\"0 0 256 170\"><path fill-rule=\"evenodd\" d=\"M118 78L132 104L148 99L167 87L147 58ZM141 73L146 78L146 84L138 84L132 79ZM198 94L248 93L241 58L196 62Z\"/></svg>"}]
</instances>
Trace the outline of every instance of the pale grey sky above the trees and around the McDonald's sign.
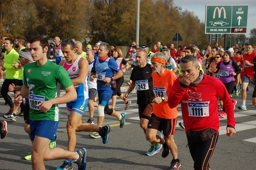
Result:
<instances>
[{"instance_id":1,"label":"pale grey sky above the trees and around the McDonald's sign","mask_svg":"<svg viewBox=\"0 0 256 170\"><path fill-rule=\"evenodd\" d=\"M193 12L198 19L204 23L206 5L248 5L247 32L246 37L250 37L250 30L256 28L256 0L173 0L174 6Z\"/></svg>"}]
</instances>

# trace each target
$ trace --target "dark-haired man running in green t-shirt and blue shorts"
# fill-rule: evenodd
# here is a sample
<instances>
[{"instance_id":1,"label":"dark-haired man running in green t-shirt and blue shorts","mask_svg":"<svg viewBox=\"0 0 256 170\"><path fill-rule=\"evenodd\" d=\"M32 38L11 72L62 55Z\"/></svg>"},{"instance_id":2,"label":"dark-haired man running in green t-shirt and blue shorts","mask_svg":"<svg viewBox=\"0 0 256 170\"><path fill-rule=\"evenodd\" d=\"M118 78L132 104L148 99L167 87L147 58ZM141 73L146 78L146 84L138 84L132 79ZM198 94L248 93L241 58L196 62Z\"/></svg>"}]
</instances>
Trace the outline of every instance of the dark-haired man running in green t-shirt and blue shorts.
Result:
<instances>
[{"instance_id":1,"label":"dark-haired man running in green t-shirt and blue shorts","mask_svg":"<svg viewBox=\"0 0 256 170\"><path fill-rule=\"evenodd\" d=\"M45 170L44 160L70 158L76 160L79 170L86 168L85 148L71 152L62 148L49 149L51 139L58 128L58 104L76 99L76 90L67 72L47 59L49 48L46 38L34 36L30 39L31 55L34 63L24 66L24 85L15 99L18 107L23 97L29 98L30 139L32 141L32 169ZM60 86L66 94L59 97Z\"/></svg>"}]
</instances>

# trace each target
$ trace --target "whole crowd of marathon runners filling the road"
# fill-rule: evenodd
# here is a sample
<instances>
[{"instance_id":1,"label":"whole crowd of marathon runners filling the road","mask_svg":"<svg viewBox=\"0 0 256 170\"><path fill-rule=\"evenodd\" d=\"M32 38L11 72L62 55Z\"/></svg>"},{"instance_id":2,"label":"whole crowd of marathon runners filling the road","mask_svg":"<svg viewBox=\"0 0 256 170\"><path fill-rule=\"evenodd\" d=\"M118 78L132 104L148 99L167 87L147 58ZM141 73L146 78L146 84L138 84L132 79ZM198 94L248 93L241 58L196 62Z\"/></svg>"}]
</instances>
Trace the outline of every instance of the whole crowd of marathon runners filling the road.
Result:
<instances>
[{"instance_id":1,"label":"whole crowd of marathon runners filling the road","mask_svg":"<svg viewBox=\"0 0 256 170\"><path fill-rule=\"evenodd\" d=\"M145 155L153 156L163 148L163 158L172 154L169 170L179 169L181 161L174 135L180 104L183 122L179 125L185 129L194 169L209 170L219 119L227 116L227 135L234 135L237 101L232 99L241 94L238 109L246 110L248 84L255 87L256 46L252 44L241 49L235 44L224 50L215 43L207 45L203 53L193 44L175 49L174 44L168 48L157 42L151 52L148 44L139 47L131 41L128 52L123 53L102 41L93 47L87 45L84 52L82 43L74 38L61 41L55 37L49 42L34 36L26 44L22 37L2 37L1 41L1 95L10 107L3 117L8 121L24 118L24 129L32 141L31 154L24 158L32 160L35 170L44 170L44 160L53 159L64 159L56 170L73 170L73 162L79 170L85 170L87 150L75 151L76 132L91 132L92 138L102 138L106 144L110 126L102 126L105 115L116 117L119 127L124 128L127 115L115 110L116 95L127 110L131 105L130 93L137 93L140 127L150 142ZM126 71L130 71L129 87L122 94ZM63 96L61 89L66 92ZM8 92L14 93L14 102ZM256 106L255 89L252 97ZM67 106L67 150L55 147L58 104ZM82 122L87 107L90 118ZM6 137L7 121L0 122L0 134L1 138Z\"/></svg>"}]
</instances>

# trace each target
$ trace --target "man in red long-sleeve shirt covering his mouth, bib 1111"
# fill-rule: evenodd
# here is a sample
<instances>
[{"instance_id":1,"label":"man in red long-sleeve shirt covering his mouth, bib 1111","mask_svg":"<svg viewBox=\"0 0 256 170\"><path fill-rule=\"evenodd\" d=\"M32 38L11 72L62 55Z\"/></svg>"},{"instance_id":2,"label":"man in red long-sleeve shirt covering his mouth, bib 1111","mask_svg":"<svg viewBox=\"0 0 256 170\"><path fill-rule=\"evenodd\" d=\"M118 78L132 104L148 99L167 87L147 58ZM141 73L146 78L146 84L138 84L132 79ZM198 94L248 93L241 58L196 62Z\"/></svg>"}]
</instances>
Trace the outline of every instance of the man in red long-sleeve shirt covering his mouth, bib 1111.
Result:
<instances>
[{"instance_id":1,"label":"man in red long-sleeve shirt covering his mouth, bib 1111","mask_svg":"<svg viewBox=\"0 0 256 170\"><path fill-rule=\"evenodd\" d=\"M200 71L192 55L181 59L183 78L177 78L168 97L170 108L181 101L182 117L195 170L209 170L209 160L218 140L219 97L227 112L227 135L236 133L232 100L224 84ZM206 88L207 87L207 88Z\"/></svg>"}]
</instances>

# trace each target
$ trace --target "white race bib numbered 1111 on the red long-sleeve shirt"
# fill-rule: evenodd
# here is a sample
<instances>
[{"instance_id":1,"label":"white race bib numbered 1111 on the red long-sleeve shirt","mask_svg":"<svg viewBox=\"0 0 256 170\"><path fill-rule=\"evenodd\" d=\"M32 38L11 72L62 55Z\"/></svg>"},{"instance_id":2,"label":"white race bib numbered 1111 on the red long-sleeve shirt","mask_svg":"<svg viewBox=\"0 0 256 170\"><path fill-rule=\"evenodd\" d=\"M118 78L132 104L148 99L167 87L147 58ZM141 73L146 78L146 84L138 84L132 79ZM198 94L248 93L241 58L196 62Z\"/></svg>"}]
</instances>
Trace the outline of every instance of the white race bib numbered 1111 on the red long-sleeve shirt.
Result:
<instances>
[{"instance_id":1,"label":"white race bib numbered 1111 on the red long-sleeve shirt","mask_svg":"<svg viewBox=\"0 0 256 170\"><path fill-rule=\"evenodd\" d=\"M207 102L189 102L189 116L206 117L209 116L209 101Z\"/></svg>"}]
</instances>

